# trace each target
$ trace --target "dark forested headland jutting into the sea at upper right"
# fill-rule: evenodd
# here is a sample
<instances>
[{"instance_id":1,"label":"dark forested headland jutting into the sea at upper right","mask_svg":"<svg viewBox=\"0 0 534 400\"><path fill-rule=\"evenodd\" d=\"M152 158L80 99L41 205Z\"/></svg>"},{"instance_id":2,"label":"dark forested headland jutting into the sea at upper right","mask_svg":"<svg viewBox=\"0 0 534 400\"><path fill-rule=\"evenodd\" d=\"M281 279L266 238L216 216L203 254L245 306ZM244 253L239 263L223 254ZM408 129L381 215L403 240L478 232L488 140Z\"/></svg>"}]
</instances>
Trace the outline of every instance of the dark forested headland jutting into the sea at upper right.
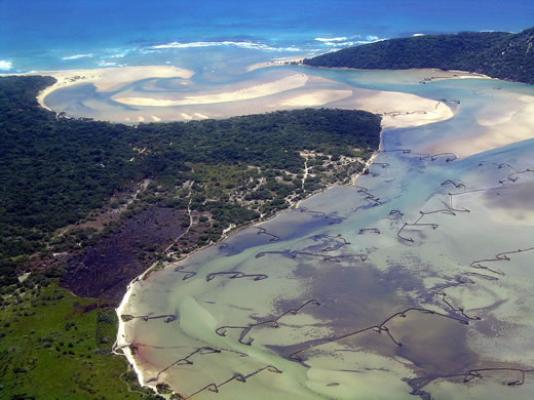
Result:
<instances>
[{"instance_id":1,"label":"dark forested headland jutting into the sea at upper right","mask_svg":"<svg viewBox=\"0 0 534 400\"><path fill-rule=\"evenodd\" d=\"M534 28L384 40L304 60L321 67L440 68L534 83Z\"/></svg>"}]
</instances>

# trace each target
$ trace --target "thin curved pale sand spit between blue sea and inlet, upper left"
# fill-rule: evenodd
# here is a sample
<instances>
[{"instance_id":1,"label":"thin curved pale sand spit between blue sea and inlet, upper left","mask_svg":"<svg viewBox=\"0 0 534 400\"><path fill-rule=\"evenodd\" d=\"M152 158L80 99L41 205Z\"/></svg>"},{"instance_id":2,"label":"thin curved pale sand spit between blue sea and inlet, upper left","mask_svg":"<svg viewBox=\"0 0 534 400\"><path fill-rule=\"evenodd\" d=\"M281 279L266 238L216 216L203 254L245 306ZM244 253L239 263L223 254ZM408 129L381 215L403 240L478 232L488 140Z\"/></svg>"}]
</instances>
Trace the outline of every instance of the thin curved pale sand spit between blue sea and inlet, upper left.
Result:
<instances>
[{"instance_id":1,"label":"thin curved pale sand spit between blue sea and inlet, upper left","mask_svg":"<svg viewBox=\"0 0 534 400\"><path fill-rule=\"evenodd\" d=\"M190 79L193 71L168 65L149 65L138 67L111 67L97 69L69 69L64 71L39 71L25 75L46 75L57 82L44 89L37 96L39 104L50 110L44 100L50 93L79 83L92 83L98 91L115 90L127 83L148 78Z\"/></svg>"}]
</instances>

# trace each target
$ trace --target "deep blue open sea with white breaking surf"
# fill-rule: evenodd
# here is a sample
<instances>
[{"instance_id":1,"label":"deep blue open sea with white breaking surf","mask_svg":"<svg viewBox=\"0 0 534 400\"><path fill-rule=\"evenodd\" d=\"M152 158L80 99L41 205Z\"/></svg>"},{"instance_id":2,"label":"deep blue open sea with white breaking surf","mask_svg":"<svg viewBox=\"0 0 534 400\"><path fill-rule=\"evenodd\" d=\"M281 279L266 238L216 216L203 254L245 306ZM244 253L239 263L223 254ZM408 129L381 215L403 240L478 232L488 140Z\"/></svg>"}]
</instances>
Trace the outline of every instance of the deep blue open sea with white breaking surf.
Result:
<instances>
[{"instance_id":1,"label":"deep blue open sea with white breaking surf","mask_svg":"<svg viewBox=\"0 0 534 400\"><path fill-rule=\"evenodd\" d=\"M420 33L533 24L531 0L0 0L0 72L187 64L210 50L216 62L223 48L314 54Z\"/></svg>"}]
</instances>

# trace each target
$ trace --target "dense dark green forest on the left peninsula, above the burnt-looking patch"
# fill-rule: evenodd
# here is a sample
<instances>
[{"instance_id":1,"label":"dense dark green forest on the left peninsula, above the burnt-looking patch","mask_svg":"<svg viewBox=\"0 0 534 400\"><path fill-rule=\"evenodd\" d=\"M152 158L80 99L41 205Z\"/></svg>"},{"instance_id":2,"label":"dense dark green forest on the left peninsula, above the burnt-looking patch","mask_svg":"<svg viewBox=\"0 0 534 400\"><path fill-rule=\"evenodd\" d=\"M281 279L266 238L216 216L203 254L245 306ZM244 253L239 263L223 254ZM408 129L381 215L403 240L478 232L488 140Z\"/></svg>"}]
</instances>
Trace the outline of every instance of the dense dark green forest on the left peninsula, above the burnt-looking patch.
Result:
<instances>
[{"instance_id":1,"label":"dense dark green forest on the left peninsula, above the burnt-looking patch","mask_svg":"<svg viewBox=\"0 0 534 400\"><path fill-rule=\"evenodd\" d=\"M3 283L14 281L14 268L56 229L144 178L179 187L193 178L195 164L296 173L303 164L299 150L349 155L355 147L372 151L379 142L379 117L359 111L308 109L136 127L58 118L35 100L52 82L0 79Z\"/></svg>"}]
</instances>

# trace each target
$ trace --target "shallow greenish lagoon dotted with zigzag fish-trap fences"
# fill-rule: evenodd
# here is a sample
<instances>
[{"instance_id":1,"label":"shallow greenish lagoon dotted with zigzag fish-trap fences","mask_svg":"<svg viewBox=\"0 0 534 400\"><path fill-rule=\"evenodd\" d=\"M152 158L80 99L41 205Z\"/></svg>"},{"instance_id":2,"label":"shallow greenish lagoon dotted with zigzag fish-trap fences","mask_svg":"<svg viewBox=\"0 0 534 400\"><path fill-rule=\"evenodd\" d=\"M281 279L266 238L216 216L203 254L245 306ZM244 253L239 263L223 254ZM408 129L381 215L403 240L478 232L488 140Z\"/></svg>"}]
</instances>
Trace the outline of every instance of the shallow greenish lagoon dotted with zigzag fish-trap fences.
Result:
<instances>
[{"instance_id":1,"label":"shallow greenish lagoon dotted with zigzag fish-trap fences","mask_svg":"<svg viewBox=\"0 0 534 400\"><path fill-rule=\"evenodd\" d=\"M534 140L514 135L534 133L532 86L306 70L455 116L385 130L354 185L132 283L118 345L141 381L199 399L531 398Z\"/></svg>"}]
</instances>

